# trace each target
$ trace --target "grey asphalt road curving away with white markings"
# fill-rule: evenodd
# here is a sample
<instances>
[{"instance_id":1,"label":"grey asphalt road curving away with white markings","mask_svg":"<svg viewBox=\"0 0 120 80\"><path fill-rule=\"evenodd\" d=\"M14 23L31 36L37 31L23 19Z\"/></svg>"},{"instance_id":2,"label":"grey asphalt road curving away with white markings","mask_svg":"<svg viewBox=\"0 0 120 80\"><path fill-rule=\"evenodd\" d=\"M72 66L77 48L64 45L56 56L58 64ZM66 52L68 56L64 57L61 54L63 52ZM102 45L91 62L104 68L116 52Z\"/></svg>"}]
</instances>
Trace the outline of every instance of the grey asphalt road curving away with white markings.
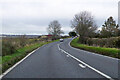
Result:
<instances>
[{"instance_id":1,"label":"grey asphalt road curving away with white markings","mask_svg":"<svg viewBox=\"0 0 120 80\"><path fill-rule=\"evenodd\" d=\"M71 40L42 46L3 78L118 78L118 59L72 48Z\"/></svg>"}]
</instances>

